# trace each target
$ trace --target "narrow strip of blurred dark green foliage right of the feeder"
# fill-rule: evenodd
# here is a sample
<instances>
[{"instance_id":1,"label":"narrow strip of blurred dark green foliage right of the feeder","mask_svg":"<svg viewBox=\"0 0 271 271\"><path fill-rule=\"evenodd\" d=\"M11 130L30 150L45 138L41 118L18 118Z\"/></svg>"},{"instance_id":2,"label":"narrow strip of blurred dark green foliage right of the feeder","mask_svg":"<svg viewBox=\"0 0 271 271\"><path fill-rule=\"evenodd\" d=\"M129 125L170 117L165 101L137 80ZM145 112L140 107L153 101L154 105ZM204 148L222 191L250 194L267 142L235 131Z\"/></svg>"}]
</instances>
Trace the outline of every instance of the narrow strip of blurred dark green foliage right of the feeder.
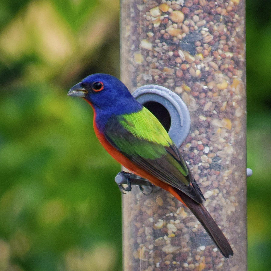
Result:
<instances>
[{"instance_id":1,"label":"narrow strip of blurred dark green foliage right of the feeder","mask_svg":"<svg viewBox=\"0 0 271 271\"><path fill-rule=\"evenodd\" d=\"M271 2L246 1L248 270L271 266Z\"/></svg>"}]
</instances>

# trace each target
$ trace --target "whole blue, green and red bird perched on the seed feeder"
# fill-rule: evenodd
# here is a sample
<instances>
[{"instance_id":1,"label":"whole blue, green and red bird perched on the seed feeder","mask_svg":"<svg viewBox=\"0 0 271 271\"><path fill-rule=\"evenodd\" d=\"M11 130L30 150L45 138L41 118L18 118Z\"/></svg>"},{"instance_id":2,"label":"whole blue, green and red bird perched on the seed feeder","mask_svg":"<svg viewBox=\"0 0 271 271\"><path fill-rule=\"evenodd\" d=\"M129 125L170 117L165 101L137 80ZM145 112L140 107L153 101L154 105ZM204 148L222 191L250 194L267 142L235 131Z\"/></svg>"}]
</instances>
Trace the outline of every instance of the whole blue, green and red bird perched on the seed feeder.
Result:
<instances>
[{"instance_id":1,"label":"whole blue, green and red bird perched on the seed feeder","mask_svg":"<svg viewBox=\"0 0 271 271\"><path fill-rule=\"evenodd\" d=\"M74 85L94 111L93 128L107 152L132 173L171 193L187 206L224 257L233 255L225 235L209 214L191 170L160 121L116 77L96 73Z\"/></svg>"}]
</instances>

